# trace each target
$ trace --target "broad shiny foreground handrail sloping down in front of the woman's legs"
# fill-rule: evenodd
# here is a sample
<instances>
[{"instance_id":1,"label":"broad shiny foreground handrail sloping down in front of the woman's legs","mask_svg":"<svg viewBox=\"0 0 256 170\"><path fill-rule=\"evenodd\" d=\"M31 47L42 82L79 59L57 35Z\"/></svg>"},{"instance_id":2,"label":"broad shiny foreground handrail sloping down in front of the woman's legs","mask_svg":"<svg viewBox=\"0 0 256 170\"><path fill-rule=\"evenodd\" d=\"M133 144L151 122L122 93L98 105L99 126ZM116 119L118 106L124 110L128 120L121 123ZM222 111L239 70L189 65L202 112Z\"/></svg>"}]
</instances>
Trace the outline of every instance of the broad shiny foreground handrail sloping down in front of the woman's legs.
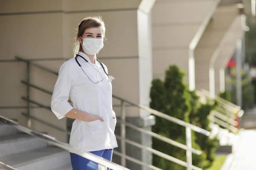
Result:
<instances>
[{"instance_id":1,"label":"broad shiny foreground handrail sloping down in front of the woman's legs","mask_svg":"<svg viewBox=\"0 0 256 170\"><path fill-rule=\"evenodd\" d=\"M36 132L34 130L31 130L27 127L21 126L18 122L15 122L11 119L8 119L4 116L0 115L0 121L7 124L7 125L15 127L17 130L23 131L25 133L28 133L29 135L32 135L32 136L35 136L35 137L37 137L41 140L44 140L45 142L48 142L48 143L51 143L55 146L61 147L62 149L70 151L72 153L76 153L77 155L82 156L86 159L90 159L91 161L94 161L94 162L98 163L99 167L101 167L101 168L102 167L104 167L104 168L109 167L113 170L129 170L126 167L122 167L121 165L113 163L111 161L108 161L107 159L104 159L100 156L96 156L93 153L84 152L84 151L81 151L81 150L77 149L76 147L72 147L70 144L60 142L52 136L45 135L43 133L38 133L38 132Z\"/></svg>"}]
</instances>

